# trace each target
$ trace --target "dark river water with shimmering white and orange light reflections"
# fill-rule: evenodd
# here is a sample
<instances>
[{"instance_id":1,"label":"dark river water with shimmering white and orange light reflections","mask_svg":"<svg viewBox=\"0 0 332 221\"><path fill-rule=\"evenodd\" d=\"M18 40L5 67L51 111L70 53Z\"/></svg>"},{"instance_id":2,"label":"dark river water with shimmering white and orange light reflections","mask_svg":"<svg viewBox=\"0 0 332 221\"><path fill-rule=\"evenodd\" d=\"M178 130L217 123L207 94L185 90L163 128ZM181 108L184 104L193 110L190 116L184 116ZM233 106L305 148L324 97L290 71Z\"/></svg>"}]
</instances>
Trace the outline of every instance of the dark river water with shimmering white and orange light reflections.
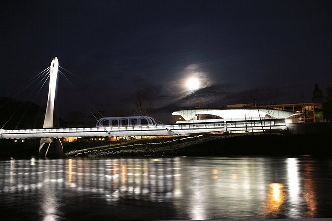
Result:
<instances>
[{"instance_id":1,"label":"dark river water with shimmering white and orange light reflections","mask_svg":"<svg viewBox=\"0 0 332 221\"><path fill-rule=\"evenodd\" d=\"M65 158L0 161L1 220L332 217L332 159Z\"/></svg>"}]
</instances>

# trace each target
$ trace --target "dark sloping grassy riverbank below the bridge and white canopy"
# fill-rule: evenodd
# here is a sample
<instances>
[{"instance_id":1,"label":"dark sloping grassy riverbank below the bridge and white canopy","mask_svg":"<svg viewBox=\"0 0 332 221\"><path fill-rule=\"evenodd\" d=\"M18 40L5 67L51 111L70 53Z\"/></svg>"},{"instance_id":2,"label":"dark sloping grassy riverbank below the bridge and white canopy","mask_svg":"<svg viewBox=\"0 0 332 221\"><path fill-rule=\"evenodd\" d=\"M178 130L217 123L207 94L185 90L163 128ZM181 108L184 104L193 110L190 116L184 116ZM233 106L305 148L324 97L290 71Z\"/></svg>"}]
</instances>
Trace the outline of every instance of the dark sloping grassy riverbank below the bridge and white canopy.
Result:
<instances>
[{"instance_id":1,"label":"dark sloping grassy riverbank below the bridge and white canopy","mask_svg":"<svg viewBox=\"0 0 332 221\"><path fill-rule=\"evenodd\" d=\"M64 143L65 157L332 156L331 133L218 134L109 142L80 147Z\"/></svg>"}]
</instances>

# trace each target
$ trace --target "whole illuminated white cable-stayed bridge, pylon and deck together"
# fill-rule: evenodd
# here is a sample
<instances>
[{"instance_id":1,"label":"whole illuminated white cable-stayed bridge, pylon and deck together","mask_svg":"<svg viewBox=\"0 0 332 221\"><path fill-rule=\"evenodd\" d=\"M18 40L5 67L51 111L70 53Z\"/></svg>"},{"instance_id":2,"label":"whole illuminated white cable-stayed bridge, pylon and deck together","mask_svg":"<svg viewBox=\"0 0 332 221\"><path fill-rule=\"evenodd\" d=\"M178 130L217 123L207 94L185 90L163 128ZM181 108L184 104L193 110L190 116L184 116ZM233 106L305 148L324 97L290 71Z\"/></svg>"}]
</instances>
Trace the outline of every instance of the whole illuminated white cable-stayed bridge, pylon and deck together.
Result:
<instances>
[{"instance_id":1,"label":"whole illuminated white cable-stayed bridge, pylon and deck together","mask_svg":"<svg viewBox=\"0 0 332 221\"><path fill-rule=\"evenodd\" d=\"M119 136L167 136L167 135L183 135L183 134L201 134L209 132L227 132L227 131L255 131L269 129L286 129L285 118L293 113L283 115L281 119L269 120L231 120L231 121L209 121L209 120L192 120L188 121L192 115L182 115L188 117L186 122L169 124L169 125L143 125L137 124L131 126L96 126L86 128L53 128L53 112L55 102L55 92L57 85L59 62L57 57L53 58L50 66L49 74L49 90L48 100L45 112L43 128L40 129L0 129L0 139L41 139L39 154L40 156L61 155L63 151L60 138L66 137L119 137ZM45 82L44 82L45 83ZM215 111L215 110L205 110ZM260 110L255 110L260 112ZM188 111L187 111L188 112ZM176 112L174 112L176 113ZM184 113L183 113L184 114ZM191 111L193 114L193 111ZM263 113L265 114L265 113ZM181 114L180 114L181 115Z\"/></svg>"}]
</instances>

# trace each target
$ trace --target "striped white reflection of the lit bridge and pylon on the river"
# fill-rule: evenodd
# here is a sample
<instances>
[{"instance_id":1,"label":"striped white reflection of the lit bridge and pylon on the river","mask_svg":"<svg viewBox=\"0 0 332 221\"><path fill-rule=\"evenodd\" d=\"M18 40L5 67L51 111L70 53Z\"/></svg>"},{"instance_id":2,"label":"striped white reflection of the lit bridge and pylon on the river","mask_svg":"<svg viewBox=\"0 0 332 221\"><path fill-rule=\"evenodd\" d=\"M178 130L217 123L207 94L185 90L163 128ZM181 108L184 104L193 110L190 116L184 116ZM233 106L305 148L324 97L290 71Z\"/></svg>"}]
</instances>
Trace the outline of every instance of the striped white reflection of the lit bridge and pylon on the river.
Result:
<instances>
[{"instance_id":1,"label":"striped white reflection of the lit bridge and pylon on the river","mask_svg":"<svg viewBox=\"0 0 332 221\"><path fill-rule=\"evenodd\" d=\"M17 166L18 161L10 161L7 181L3 182L1 191L24 191L28 194L38 191L42 199L39 211L44 220L58 219L57 191L68 189L100 194L108 202L120 200L124 196L144 196L151 201L168 202L182 196L181 170L177 158L158 161L35 159L22 162L24 165Z\"/></svg>"}]
</instances>

